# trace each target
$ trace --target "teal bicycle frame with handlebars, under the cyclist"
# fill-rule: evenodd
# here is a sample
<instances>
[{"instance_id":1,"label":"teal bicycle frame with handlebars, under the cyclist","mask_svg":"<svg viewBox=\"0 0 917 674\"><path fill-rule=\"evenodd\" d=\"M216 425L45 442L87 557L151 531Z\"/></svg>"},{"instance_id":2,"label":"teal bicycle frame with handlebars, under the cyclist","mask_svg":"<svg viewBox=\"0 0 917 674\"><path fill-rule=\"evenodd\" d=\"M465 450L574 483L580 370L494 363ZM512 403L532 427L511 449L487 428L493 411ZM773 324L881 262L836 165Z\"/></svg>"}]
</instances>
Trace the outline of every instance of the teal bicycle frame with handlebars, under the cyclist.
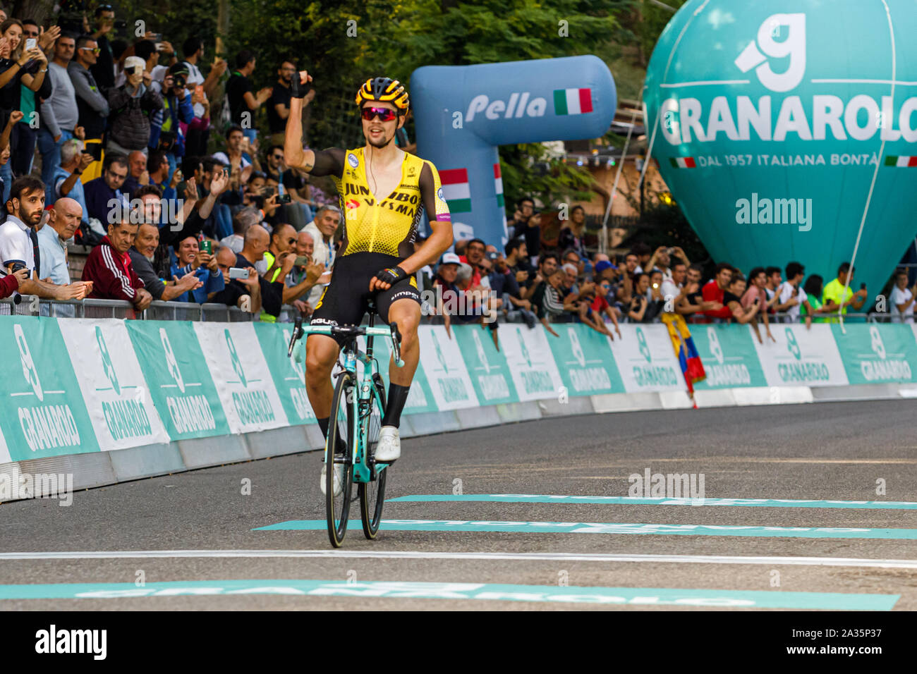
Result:
<instances>
[{"instance_id":1,"label":"teal bicycle frame with handlebars, under the cyclist","mask_svg":"<svg viewBox=\"0 0 917 674\"><path fill-rule=\"evenodd\" d=\"M297 319L296 326L293 329L293 337L290 340L290 353L292 354L293 345L299 337L307 337L308 335L327 335L330 337L332 333L337 333L338 335L343 334L347 337L344 348L341 349L344 356L343 371L349 372L353 377L353 381L357 382L359 381L357 362L359 361L363 364L363 378L354 386L357 394L352 396L351 400L348 401L351 405L353 418L357 420L356 438L348 438L348 445L351 446L352 450L350 459L353 462L353 481L355 482L373 481L382 470L385 470L389 466L387 463L370 465L369 457L365 451L368 443L367 436L370 430L370 416L372 414L373 404L372 396L375 395L377 399L379 398L379 392L376 389L376 385L382 385L379 363L372 356L371 337L386 337L391 339L395 365L399 368L404 367L404 361L401 359L401 354L399 352L400 336L397 334L397 327L394 326L394 324L390 327L374 327L371 325L372 319L373 315L370 313L370 326L306 327L302 327L302 319ZM357 337L360 335L367 337L367 348L365 353L357 348ZM381 413L384 414L385 405L382 404L381 400L379 400L379 407Z\"/></svg>"}]
</instances>

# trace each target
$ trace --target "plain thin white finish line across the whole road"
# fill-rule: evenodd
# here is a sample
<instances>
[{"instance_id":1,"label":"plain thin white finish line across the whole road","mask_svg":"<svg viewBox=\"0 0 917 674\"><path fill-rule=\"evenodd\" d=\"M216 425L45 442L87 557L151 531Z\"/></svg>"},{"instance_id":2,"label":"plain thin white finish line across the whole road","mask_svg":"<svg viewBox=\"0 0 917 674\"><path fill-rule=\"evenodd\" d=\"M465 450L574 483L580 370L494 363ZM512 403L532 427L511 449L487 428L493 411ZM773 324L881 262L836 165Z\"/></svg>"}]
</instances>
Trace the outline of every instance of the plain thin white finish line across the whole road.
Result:
<instances>
[{"instance_id":1,"label":"plain thin white finish line across the whole road","mask_svg":"<svg viewBox=\"0 0 917 674\"><path fill-rule=\"evenodd\" d=\"M841 557L738 557L728 555L628 555L601 552L433 552L427 550L88 550L75 552L4 552L0 561L16 559L137 558L354 558L354 559L499 559L517 561L642 562L678 564L764 564L773 566L917 569L917 559Z\"/></svg>"}]
</instances>

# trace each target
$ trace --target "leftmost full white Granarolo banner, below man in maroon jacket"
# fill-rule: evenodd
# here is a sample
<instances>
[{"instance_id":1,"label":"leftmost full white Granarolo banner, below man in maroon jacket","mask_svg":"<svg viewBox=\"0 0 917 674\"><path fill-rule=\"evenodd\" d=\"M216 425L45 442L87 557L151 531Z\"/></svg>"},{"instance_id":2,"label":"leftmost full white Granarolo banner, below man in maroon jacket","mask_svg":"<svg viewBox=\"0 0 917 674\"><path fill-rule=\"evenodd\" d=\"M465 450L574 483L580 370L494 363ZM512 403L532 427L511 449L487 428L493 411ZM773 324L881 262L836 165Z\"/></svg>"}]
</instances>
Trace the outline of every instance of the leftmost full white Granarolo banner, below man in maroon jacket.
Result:
<instances>
[{"instance_id":1,"label":"leftmost full white Granarolo banner, below man in maroon jacket","mask_svg":"<svg viewBox=\"0 0 917 674\"><path fill-rule=\"evenodd\" d=\"M125 322L67 318L61 323L99 448L168 443Z\"/></svg>"}]
</instances>

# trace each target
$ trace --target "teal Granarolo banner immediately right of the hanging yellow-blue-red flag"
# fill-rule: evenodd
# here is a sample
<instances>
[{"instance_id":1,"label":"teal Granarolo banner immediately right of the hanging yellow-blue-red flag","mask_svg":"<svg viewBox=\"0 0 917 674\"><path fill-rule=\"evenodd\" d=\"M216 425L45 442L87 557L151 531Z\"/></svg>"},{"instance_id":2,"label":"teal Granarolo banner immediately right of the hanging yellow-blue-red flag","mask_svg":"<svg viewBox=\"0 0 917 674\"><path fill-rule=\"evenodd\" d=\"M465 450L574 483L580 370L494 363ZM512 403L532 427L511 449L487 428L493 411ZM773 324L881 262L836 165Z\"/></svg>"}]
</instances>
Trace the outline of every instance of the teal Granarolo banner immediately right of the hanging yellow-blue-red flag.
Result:
<instances>
[{"instance_id":1,"label":"teal Granarolo banner immediately right of the hanging yellow-blue-red flag","mask_svg":"<svg viewBox=\"0 0 917 674\"><path fill-rule=\"evenodd\" d=\"M694 384L697 391L767 386L749 326L689 326L707 379ZM777 329L772 326L771 330ZM768 336L761 329L761 338Z\"/></svg>"}]
</instances>

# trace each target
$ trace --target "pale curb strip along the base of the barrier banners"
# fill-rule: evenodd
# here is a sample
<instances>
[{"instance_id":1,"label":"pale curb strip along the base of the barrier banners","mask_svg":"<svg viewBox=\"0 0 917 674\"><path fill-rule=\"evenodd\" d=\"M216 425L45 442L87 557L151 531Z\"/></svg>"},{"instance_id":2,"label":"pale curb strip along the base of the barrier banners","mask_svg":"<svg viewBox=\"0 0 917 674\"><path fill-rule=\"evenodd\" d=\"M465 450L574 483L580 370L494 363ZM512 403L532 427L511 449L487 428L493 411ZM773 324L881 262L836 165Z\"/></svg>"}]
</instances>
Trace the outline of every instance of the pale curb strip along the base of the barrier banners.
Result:
<instances>
[{"instance_id":1,"label":"pale curb strip along the base of the barrier banners","mask_svg":"<svg viewBox=\"0 0 917 674\"><path fill-rule=\"evenodd\" d=\"M701 408L760 404L844 402L917 398L913 384L862 384L822 388L750 387L698 391ZM603 393L556 399L505 403L446 412L407 414L402 437L431 436L535 419L641 410L691 408L687 392ZM296 454L325 447L318 426L293 425L239 436L200 437L169 444L107 452L69 454L0 464L0 502L17 500L20 475L72 474L72 489L101 487L122 481L194 470L226 463ZM53 495L37 493L36 496Z\"/></svg>"}]
</instances>

